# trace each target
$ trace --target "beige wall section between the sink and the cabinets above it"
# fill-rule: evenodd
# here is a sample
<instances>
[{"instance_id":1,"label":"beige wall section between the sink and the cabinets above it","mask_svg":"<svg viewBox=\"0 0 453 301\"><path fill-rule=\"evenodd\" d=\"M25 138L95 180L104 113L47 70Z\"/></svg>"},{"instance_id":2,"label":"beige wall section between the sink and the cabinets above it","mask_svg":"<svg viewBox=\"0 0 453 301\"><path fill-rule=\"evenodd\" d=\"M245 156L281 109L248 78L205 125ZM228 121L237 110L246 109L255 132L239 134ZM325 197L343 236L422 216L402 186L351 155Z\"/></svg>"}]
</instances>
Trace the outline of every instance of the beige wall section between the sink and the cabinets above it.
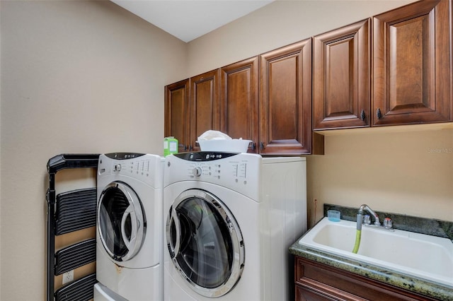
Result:
<instances>
[{"instance_id":1,"label":"beige wall section between the sink and the cabinets above it","mask_svg":"<svg viewBox=\"0 0 453 301\"><path fill-rule=\"evenodd\" d=\"M325 136L325 155L307 156L309 224L323 203L453 221L453 124L434 127Z\"/></svg>"}]
</instances>

